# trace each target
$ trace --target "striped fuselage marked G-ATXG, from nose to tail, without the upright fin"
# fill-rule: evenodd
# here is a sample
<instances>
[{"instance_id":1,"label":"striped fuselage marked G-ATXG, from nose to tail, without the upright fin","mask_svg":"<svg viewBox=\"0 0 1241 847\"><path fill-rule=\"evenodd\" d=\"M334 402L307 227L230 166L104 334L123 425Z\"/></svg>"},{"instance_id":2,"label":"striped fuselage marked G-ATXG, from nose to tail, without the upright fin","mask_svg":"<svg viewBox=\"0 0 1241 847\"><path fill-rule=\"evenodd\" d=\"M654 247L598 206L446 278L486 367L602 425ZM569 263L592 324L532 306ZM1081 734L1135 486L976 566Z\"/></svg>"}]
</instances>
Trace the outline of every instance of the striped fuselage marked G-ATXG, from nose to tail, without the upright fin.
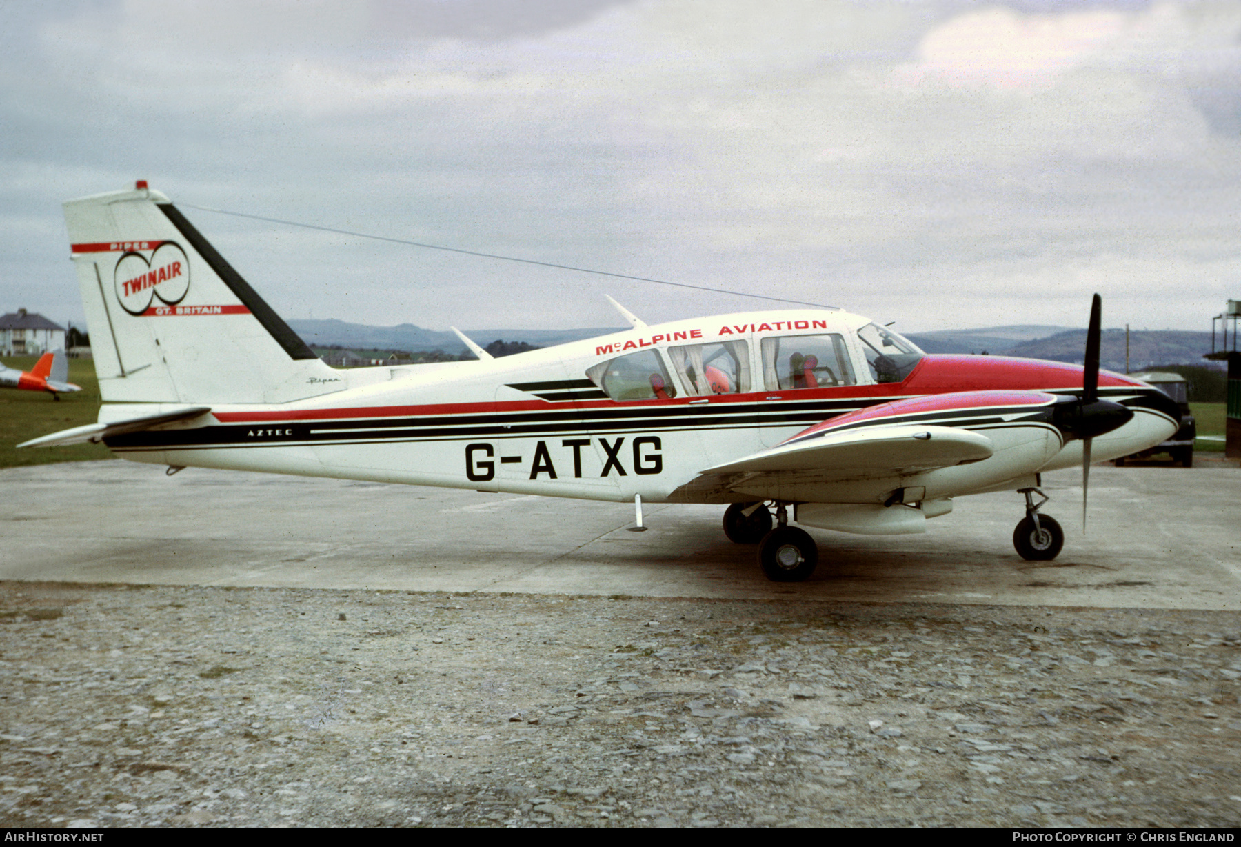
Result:
<instances>
[{"instance_id":1,"label":"striped fuselage marked G-ATXG, from nose to tail, without the upright fin","mask_svg":"<svg viewBox=\"0 0 1241 847\"><path fill-rule=\"evenodd\" d=\"M776 447L838 415L961 391L1081 392L1082 369L1050 361L894 350L901 371L882 361L875 329L845 312L742 313L503 359L338 370L341 387L334 392L284 404L211 404L206 421L105 443L125 458L170 466L727 503L769 494L746 489L743 481L727 491L695 487L701 471ZM1095 440L1096 461L1128 455L1175 422L1167 397L1142 383L1104 373L1100 394L1134 416ZM105 405L99 421L172 407ZM787 499L877 502L896 486L922 486L933 499L1015 488L1033 473L1081 462L1080 442L1005 414L973 409L925 419L985 430L1000 447L985 461L921 476L870 469L819 483L810 476Z\"/></svg>"}]
</instances>

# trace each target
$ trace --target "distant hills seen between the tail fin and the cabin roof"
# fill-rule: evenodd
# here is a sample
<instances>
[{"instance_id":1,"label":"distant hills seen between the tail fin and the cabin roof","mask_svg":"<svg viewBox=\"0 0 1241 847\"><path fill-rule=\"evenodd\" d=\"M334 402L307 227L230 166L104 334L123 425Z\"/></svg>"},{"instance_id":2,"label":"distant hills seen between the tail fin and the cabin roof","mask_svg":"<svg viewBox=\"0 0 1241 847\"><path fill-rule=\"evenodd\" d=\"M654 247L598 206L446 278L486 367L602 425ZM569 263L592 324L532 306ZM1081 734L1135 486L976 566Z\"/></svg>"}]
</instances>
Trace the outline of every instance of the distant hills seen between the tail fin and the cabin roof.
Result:
<instances>
[{"instance_id":1,"label":"distant hills seen between the tail fin and the cabin roof","mask_svg":"<svg viewBox=\"0 0 1241 847\"><path fill-rule=\"evenodd\" d=\"M343 348L365 350L408 350L411 353L443 350L444 353L463 353L465 345L450 332L423 329L412 323L396 327L371 327L369 324L346 323L344 320L289 320L289 327L310 346L329 346L339 344ZM495 340L525 342L534 346L552 346L583 338L607 335L623 332L616 327L594 327L586 329L465 329L463 330L478 344L486 346Z\"/></svg>"}]
</instances>

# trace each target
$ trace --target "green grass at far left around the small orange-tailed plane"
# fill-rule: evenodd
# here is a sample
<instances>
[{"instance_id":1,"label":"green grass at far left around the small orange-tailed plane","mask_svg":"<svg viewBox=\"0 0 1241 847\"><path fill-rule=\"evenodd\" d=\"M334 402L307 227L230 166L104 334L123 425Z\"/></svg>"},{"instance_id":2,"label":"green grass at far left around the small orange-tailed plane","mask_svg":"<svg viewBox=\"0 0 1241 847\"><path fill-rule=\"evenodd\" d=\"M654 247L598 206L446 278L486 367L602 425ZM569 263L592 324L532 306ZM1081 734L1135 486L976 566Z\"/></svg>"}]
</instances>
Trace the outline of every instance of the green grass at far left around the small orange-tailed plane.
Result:
<instances>
[{"instance_id":1,"label":"green grass at far left around the small orange-tailed plane","mask_svg":"<svg viewBox=\"0 0 1241 847\"><path fill-rule=\"evenodd\" d=\"M0 361L10 368L30 370L38 358L14 356ZM99 415L99 381L94 378L94 361L69 359L69 381L81 385L82 390L62 394L60 401L43 391L0 390L0 467L112 458L112 451L103 445L14 448L14 445L41 435L96 422Z\"/></svg>"}]
</instances>

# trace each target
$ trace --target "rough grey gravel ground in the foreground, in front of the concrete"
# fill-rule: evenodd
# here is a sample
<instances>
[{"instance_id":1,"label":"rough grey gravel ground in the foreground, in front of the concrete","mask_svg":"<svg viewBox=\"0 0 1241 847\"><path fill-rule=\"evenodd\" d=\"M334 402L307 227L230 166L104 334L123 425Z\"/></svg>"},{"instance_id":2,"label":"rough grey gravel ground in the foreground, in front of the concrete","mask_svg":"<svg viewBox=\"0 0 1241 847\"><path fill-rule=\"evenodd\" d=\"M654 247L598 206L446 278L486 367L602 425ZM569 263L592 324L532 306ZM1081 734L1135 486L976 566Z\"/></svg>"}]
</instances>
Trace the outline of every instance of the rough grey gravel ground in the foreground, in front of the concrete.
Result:
<instances>
[{"instance_id":1,"label":"rough grey gravel ground in the foreground, in front of the concrete","mask_svg":"<svg viewBox=\"0 0 1241 847\"><path fill-rule=\"evenodd\" d=\"M0 582L6 826L1236 826L1231 612Z\"/></svg>"}]
</instances>

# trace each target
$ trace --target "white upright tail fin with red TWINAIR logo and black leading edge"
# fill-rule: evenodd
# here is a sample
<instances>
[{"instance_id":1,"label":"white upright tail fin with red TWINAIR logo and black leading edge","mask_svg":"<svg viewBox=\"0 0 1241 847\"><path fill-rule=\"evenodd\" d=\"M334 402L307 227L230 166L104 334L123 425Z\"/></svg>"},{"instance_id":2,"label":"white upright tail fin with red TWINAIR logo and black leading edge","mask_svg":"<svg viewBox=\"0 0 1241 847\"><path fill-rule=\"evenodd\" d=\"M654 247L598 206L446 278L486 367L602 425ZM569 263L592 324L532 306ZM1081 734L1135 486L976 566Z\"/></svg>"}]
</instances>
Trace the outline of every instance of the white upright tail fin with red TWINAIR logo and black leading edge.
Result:
<instances>
[{"instance_id":1,"label":"white upright tail fin with red TWINAIR logo and black leading edge","mask_svg":"<svg viewBox=\"0 0 1241 847\"><path fill-rule=\"evenodd\" d=\"M104 401L287 402L345 381L159 191L65 204Z\"/></svg>"}]
</instances>

